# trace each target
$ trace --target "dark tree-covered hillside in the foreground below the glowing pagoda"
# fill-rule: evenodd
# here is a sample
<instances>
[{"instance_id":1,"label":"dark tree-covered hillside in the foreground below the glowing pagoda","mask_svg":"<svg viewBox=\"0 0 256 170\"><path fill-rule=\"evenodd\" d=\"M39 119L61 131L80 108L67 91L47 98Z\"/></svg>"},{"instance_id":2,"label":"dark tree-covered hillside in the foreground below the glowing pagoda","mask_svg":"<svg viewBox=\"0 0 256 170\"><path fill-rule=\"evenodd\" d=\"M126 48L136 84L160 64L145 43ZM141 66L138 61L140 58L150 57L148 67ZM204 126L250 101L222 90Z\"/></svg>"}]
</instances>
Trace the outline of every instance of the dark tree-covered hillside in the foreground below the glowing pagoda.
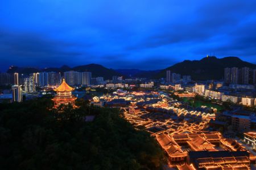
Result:
<instances>
[{"instance_id":1,"label":"dark tree-covered hillside in the foreground below the glowing pagoda","mask_svg":"<svg viewBox=\"0 0 256 170\"><path fill-rule=\"evenodd\" d=\"M160 169L162 150L147 132L118 110L76 105L58 113L49 98L1 104L0 169Z\"/></svg>"}]
</instances>

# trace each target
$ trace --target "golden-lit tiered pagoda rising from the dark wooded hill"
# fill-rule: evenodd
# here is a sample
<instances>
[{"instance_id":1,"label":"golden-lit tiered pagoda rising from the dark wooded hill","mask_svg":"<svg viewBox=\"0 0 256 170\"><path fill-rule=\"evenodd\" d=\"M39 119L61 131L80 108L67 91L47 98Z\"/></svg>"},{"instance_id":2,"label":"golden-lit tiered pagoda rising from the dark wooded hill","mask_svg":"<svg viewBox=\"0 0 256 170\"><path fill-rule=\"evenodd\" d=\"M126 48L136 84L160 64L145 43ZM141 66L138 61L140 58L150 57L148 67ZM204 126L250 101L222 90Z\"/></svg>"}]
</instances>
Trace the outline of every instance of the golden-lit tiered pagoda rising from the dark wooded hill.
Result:
<instances>
[{"instance_id":1,"label":"golden-lit tiered pagoda rising from the dark wooded hill","mask_svg":"<svg viewBox=\"0 0 256 170\"><path fill-rule=\"evenodd\" d=\"M57 95L52 99L54 102L54 107L59 107L60 105L69 105L76 107L75 100L76 97L72 96L72 91L74 88L71 88L63 79L61 85L54 89Z\"/></svg>"}]
</instances>

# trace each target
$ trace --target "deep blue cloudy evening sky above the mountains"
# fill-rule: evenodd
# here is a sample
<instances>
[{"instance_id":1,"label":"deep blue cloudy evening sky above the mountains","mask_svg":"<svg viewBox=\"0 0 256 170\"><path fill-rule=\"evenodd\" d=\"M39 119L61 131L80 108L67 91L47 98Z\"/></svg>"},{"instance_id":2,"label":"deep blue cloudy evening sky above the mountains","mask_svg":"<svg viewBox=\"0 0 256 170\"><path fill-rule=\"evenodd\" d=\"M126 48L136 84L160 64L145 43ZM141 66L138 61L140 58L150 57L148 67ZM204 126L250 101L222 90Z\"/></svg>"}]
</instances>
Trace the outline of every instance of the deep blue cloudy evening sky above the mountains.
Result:
<instances>
[{"instance_id":1,"label":"deep blue cloudy evening sky above the mountains","mask_svg":"<svg viewBox=\"0 0 256 170\"><path fill-rule=\"evenodd\" d=\"M256 1L3 0L9 65L162 69L206 55L256 63Z\"/></svg>"}]
</instances>

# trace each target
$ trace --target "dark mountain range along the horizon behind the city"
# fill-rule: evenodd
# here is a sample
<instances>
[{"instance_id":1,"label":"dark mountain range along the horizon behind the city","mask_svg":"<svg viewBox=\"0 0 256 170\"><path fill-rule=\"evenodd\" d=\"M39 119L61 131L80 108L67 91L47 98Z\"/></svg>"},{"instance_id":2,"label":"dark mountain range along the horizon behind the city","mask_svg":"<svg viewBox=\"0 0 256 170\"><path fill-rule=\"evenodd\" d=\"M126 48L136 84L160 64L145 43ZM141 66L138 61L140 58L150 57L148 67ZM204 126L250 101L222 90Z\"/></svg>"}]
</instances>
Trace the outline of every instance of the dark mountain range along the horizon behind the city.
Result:
<instances>
[{"instance_id":1,"label":"dark mountain range along the horizon behind the city","mask_svg":"<svg viewBox=\"0 0 256 170\"><path fill-rule=\"evenodd\" d=\"M181 75L191 75L192 80L220 80L224 78L224 69L226 67L249 67L256 68L255 64L242 61L238 57L224 57L218 59L210 56L204 57L201 60L184 60L180 63L174 64L171 67L155 71L142 71L140 69L109 69L99 64L80 65L77 67L68 67L63 65L60 68L19 68L10 67L7 73L35 73L35 72L65 72L65 71L80 71L92 72L92 77L104 77L105 79L112 79L113 76L124 77L141 77L141 78L162 78L166 77L166 71L170 70L173 73Z\"/></svg>"}]
</instances>

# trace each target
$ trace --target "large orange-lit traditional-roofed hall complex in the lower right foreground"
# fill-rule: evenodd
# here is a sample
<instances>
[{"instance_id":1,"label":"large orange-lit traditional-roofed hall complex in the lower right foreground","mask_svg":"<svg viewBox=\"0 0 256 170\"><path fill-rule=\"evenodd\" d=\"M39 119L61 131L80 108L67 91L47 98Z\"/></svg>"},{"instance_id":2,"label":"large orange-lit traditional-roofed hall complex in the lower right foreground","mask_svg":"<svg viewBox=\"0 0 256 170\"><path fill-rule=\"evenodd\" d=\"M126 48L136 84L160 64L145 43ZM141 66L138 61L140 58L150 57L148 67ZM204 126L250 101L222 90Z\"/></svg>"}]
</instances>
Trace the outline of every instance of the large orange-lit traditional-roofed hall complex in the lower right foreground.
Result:
<instances>
[{"instance_id":1,"label":"large orange-lit traditional-roofed hall complex in the lower right foreground","mask_svg":"<svg viewBox=\"0 0 256 170\"><path fill-rule=\"evenodd\" d=\"M220 132L155 134L177 169L250 169L249 152Z\"/></svg>"}]
</instances>

